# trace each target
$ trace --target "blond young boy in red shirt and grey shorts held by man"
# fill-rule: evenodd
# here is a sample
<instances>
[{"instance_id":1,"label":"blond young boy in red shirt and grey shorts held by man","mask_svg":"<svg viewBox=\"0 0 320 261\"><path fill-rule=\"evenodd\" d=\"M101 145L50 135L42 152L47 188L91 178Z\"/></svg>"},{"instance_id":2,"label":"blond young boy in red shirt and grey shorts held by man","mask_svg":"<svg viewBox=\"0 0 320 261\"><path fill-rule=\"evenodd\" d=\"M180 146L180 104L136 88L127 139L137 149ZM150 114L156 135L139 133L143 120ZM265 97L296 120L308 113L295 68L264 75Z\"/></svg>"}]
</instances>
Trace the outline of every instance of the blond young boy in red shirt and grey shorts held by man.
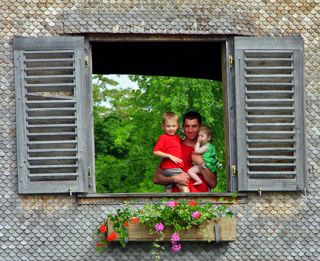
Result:
<instances>
[{"instance_id":1,"label":"blond young boy in red shirt and grey shorts held by man","mask_svg":"<svg viewBox=\"0 0 320 261\"><path fill-rule=\"evenodd\" d=\"M162 129L165 134L162 134L153 150L153 155L163 158L160 163L161 174L164 176L175 176L183 171L181 159L180 143L183 141L178 135L175 135L179 124L178 116L173 112L166 112L162 115ZM165 192L172 192L174 183L165 185ZM176 183L176 186L181 192L190 192L188 186L181 186Z\"/></svg>"}]
</instances>

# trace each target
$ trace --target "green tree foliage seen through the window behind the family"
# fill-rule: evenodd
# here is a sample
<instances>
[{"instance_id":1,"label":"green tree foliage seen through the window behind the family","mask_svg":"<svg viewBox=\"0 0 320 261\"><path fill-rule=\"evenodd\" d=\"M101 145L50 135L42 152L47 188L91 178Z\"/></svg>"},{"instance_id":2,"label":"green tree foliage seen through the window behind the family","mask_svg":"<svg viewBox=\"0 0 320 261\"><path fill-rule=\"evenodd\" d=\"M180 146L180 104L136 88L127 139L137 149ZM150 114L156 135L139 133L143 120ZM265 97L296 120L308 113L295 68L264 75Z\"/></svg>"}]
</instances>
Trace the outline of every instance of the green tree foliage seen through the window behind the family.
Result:
<instances>
[{"instance_id":1,"label":"green tree foliage seen through the window behind the family","mask_svg":"<svg viewBox=\"0 0 320 261\"><path fill-rule=\"evenodd\" d=\"M160 159L154 157L152 151L157 139L164 133L160 124L161 115L166 111L178 115L180 127L177 134L181 138L184 138L182 117L188 111L199 112L204 125L211 126L212 144L216 147L220 162L215 191L225 191L221 82L130 75L130 79L138 83L138 90L107 90L107 82L103 80L107 78L101 76L99 79L103 84L95 85L97 96L94 99L98 193L164 191L164 186L153 184L153 175ZM103 108L102 101L109 102L111 107Z\"/></svg>"}]
</instances>

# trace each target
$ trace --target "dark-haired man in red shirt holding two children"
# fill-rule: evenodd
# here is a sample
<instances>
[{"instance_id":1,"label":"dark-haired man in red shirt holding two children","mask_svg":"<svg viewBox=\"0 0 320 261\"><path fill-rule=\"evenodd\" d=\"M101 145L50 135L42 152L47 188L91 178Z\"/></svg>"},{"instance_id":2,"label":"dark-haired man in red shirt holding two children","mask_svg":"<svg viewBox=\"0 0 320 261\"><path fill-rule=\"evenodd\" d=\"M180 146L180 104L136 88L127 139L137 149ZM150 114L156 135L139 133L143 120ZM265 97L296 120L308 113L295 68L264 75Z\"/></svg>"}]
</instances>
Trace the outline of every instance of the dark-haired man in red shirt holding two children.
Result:
<instances>
[{"instance_id":1,"label":"dark-haired man in red shirt holding two children","mask_svg":"<svg viewBox=\"0 0 320 261\"><path fill-rule=\"evenodd\" d=\"M166 177L161 174L161 170L158 166L153 182L158 185L166 185L170 183L178 183L181 186L188 186L190 192L208 192L208 186L215 188L217 186L217 172L212 173L209 170L202 158L201 154L194 154L193 146L196 145L198 138L198 130L203 125L201 115L197 112L188 112L183 116L183 131L185 133L185 139L181 143L182 160L184 167L182 170L184 172L176 176ZM201 175L198 175L202 181L201 185L194 187L194 180L190 179L189 175L186 173L189 168L193 166L192 162L201 166ZM173 192L180 192L179 189L174 186Z\"/></svg>"}]
</instances>

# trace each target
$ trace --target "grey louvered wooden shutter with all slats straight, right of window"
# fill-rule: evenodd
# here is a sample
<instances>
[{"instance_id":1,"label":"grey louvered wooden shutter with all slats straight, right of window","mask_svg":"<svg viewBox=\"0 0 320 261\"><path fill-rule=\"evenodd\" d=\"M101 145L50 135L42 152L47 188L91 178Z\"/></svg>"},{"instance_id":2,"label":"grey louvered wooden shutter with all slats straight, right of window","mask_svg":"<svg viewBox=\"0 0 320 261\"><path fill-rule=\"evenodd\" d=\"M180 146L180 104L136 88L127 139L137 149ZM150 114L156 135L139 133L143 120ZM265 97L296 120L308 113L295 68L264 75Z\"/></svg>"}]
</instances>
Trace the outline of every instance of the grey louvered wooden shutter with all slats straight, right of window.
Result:
<instances>
[{"instance_id":1,"label":"grey louvered wooden shutter with all slats straight, right of window","mask_svg":"<svg viewBox=\"0 0 320 261\"><path fill-rule=\"evenodd\" d=\"M238 189L303 190L303 39L235 37L235 78Z\"/></svg>"}]
</instances>

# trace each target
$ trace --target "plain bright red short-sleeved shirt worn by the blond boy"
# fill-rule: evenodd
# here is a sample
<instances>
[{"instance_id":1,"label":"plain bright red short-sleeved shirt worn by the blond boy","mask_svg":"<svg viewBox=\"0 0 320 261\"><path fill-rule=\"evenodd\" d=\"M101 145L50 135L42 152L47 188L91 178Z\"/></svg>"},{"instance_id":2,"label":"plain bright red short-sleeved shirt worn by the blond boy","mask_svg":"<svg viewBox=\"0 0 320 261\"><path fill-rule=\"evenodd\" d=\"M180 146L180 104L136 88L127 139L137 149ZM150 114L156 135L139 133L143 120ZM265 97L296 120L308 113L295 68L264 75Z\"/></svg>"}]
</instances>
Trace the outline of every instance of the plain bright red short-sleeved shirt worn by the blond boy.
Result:
<instances>
[{"instance_id":1,"label":"plain bright red short-sleeved shirt worn by the blond boy","mask_svg":"<svg viewBox=\"0 0 320 261\"><path fill-rule=\"evenodd\" d=\"M181 147L180 143L183 141L178 135L174 134L172 136L168 134L162 134L157 141L157 144L153 151L161 151L163 153L171 154L179 159L181 158ZM169 158L164 158L162 163L160 164L160 169L175 169L181 168L183 166L183 162L175 163Z\"/></svg>"}]
</instances>

